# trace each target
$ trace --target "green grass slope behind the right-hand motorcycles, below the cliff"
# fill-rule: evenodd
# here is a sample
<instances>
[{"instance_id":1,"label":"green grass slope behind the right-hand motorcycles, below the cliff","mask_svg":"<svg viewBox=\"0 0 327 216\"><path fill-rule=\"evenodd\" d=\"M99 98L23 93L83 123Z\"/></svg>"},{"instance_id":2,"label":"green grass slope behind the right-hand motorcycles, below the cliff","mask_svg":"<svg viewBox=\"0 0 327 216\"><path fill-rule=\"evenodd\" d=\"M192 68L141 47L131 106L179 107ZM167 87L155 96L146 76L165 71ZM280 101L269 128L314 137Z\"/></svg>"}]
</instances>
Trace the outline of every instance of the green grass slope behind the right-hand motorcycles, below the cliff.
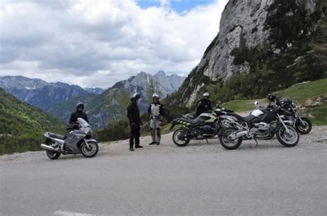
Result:
<instances>
[{"instance_id":1,"label":"green grass slope behind the right-hand motorcycles, below the cliff","mask_svg":"<svg viewBox=\"0 0 327 216\"><path fill-rule=\"evenodd\" d=\"M290 98L299 107L299 114L307 116L312 120L314 125L327 125L327 78L293 85L288 89L275 92L280 98ZM255 109L254 102L262 105L268 100L251 99L251 100L231 100L225 102L222 107L232 109L236 112L249 112Z\"/></svg>"}]
</instances>

